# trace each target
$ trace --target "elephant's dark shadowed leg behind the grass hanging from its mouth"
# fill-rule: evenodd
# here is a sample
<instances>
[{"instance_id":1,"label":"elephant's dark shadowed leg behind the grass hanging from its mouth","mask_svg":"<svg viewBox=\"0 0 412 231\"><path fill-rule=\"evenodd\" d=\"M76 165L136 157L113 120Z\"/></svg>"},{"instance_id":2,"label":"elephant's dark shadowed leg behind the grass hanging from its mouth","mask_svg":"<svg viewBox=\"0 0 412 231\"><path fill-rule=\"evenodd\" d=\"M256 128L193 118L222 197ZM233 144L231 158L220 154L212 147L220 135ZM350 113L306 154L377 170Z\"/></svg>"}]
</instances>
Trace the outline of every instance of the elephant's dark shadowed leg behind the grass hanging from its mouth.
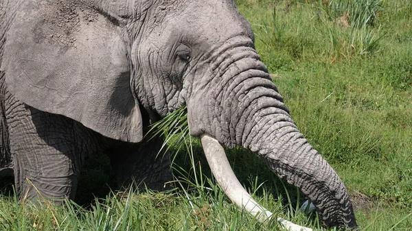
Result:
<instances>
[{"instance_id":1,"label":"elephant's dark shadowed leg behind the grass hanging from its mouth","mask_svg":"<svg viewBox=\"0 0 412 231\"><path fill-rule=\"evenodd\" d=\"M159 153L163 140L153 138L139 144L119 142L109 151L111 166L119 186L127 188L135 182L139 188L156 191L171 189L170 156Z\"/></svg>"}]
</instances>

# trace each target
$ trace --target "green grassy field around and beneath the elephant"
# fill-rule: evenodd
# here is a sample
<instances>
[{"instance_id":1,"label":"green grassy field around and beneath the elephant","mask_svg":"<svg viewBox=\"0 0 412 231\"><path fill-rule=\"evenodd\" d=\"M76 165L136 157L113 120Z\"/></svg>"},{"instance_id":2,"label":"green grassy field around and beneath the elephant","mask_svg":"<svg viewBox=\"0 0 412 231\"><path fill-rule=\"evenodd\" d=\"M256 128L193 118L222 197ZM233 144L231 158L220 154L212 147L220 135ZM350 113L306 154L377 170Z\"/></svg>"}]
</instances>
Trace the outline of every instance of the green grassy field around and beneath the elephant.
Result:
<instances>
[{"instance_id":1,"label":"green grassy field around and beneath the elephant","mask_svg":"<svg viewBox=\"0 0 412 231\"><path fill-rule=\"evenodd\" d=\"M360 229L411 230L412 1L236 3L293 119L350 191ZM233 206L198 141L185 141L171 143L174 191L108 194L107 161L93 160L77 204L18 204L5 193L0 230L278 230ZM242 184L266 208L325 230L316 213L296 209L304 198L261 160L240 148L228 152Z\"/></svg>"}]
</instances>

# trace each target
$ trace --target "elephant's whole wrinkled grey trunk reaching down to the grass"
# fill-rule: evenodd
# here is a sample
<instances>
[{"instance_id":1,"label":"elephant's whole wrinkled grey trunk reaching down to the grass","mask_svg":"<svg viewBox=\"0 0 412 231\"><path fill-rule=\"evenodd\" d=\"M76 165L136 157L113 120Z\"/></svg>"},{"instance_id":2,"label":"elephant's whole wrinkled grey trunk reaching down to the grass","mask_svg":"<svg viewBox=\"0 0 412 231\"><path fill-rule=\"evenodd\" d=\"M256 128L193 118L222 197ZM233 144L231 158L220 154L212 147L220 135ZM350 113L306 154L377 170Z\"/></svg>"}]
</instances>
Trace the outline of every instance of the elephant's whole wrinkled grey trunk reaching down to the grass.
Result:
<instances>
[{"instance_id":1,"label":"elephant's whole wrinkled grey trunk reaching down to the grass","mask_svg":"<svg viewBox=\"0 0 412 231\"><path fill-rule=\"evenodd\" d=\"M326 225L356 229L343 182L297 130L250 38L232 38L215 53L214 77L195 86L188 103L192 135L254 151L313 202Z\"/></svg>"}]
</instances>

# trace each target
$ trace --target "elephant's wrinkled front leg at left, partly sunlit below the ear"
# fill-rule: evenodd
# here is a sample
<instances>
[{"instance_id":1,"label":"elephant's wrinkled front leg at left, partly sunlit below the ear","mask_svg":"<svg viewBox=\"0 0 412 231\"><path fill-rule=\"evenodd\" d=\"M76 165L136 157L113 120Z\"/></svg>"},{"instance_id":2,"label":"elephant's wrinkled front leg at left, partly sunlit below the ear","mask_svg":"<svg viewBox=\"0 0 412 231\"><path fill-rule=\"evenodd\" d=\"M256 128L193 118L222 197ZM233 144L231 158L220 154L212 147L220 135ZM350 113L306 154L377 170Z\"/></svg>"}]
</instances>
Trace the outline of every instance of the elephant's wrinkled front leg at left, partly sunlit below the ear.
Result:
<instances>
[{"instance_id":1,"label":"elephant's wrinkled front leg at left, partly sunlit below the ear","mask_svg":"<svg viewBox=\"0 0 412 231\"><path fill-rule=\"evenodd\" d=\"M19 198L56 199L56 203L73 199L84 155L93 147L93 132L67 117L19 101L9 105L10 151Z\"/></svg>"}]
</instances>

